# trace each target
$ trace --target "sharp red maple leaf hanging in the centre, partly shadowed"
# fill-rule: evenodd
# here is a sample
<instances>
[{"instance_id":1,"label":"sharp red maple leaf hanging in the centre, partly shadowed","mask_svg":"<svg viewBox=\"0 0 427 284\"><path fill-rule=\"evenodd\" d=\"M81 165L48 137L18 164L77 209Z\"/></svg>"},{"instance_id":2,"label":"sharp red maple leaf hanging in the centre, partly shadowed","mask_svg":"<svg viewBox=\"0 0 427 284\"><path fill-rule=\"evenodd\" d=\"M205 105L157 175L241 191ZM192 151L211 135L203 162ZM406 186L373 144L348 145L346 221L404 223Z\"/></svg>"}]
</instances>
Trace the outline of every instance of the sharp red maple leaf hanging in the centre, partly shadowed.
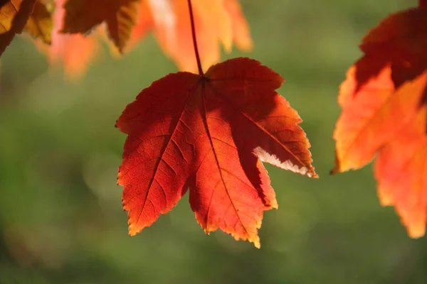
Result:
<instances>
[{"instance_id":1,"label":"sharp red maple leaf hanging in the centre, partly shadowed","mask_svg":"<svg viewBox=\"0 0 427 284\"><path fill-rule=\"evenodd\" d=\"M205 75L167 75L139 93L116 124L127 134L118 184L130 235L189 188L207 234L221 229L260 247L263 212L278 207L261 161L317 178L300 116L275 92L282 82L260 62L235 58Z\"/></svg>"}]
</instances>

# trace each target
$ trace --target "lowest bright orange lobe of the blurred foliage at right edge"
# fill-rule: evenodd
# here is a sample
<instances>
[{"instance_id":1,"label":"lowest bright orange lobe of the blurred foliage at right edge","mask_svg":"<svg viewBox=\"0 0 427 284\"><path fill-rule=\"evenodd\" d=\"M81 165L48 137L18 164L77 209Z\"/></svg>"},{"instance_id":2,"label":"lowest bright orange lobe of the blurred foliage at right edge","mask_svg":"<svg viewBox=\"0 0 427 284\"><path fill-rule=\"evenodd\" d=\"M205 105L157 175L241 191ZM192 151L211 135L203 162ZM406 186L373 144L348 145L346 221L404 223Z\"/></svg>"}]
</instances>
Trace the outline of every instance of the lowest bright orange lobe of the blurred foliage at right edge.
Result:
<instances>
[{"instance_id":1,"label":"lowest bright orange lobe of the blurred foliage at right edge","mask_svg":"<svg viewBox=\"0 0 427 284\"><path fill-rule=\"evenodd\" d=\"M421 78L426 86L427 72ZM375 163L379 199L394 205L409 236L423 236L427 220L427 108L423 106L404 129L379 152Z\"/></svg>"}]
</instances>

